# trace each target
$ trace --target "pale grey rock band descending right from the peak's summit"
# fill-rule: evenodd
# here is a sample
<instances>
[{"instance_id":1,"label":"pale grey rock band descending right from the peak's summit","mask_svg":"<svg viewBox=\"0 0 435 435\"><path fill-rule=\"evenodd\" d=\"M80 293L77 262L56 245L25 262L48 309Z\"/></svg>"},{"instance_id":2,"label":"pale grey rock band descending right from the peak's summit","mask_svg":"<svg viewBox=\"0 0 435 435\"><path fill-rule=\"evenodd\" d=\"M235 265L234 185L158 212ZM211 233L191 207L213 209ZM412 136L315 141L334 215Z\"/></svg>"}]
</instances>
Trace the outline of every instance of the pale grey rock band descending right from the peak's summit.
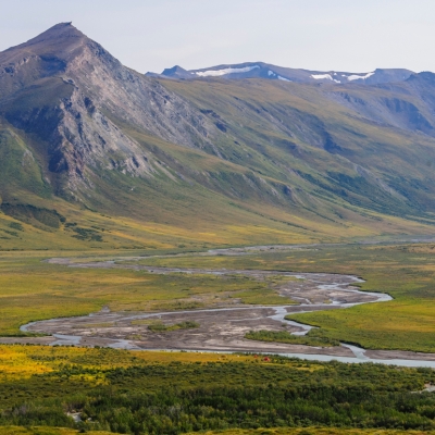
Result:
<instances>
[{"instance_id":1,"label":"pale grey rock band descending right from the peak's summit","mask_svg":"<svg viewBox=\"0 0 435 435\"><path fill-rule=\"evenodd\" d=\"M67 62L65 76L86 89L99 108L174 144L209 144L212 125L187 101L123 66L97 42L83 42L80 55Z\"/></svg>"}]
</instances>

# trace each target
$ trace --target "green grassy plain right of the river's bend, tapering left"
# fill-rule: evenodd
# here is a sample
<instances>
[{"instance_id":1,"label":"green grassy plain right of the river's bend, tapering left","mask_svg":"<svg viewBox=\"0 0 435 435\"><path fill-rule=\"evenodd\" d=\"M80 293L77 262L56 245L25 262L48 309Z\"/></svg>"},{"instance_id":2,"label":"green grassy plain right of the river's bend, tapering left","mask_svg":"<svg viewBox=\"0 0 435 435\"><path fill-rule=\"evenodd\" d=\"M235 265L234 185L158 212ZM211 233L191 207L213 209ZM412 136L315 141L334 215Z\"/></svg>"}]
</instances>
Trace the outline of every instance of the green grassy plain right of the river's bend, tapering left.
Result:
<instances>
[{"instance_id":1,"label":"green grassy plain right of the river's bend, tapering left","mask_svg":"<svg viewBox=\"0 0 435 435\"><path fill-rule=\"evenodd\" d=\"M389 294L394 300L346 310L291 315L320 326L322 336L369 349L435 351L433 244L315 246L249 256L144 259L142 264L178 268L263 269L287 272L356 274L361 290Z\"/></svg>"}]
</instances>

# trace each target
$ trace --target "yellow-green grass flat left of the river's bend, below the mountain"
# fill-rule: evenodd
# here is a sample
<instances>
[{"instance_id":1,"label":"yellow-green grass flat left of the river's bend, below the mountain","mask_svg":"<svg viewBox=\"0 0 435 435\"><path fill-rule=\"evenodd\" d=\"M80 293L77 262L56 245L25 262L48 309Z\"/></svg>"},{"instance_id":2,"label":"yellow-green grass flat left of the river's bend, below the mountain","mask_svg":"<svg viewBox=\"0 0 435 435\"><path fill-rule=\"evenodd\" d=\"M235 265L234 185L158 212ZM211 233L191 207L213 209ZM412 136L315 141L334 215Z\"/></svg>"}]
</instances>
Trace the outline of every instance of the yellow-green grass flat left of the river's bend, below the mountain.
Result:
<instances>
[{"instance_id":1,"label":"yellow-green grass flat left of the river's bend, below the mountain","mask_svg":"<svg viewBox=\"0 0 435 435\"><path fill-rule=\"evenodd\" d=\"M38 256L1 256L2 336L26 336L18 328L30 321L86 315L104 306L112 311L196 309L228 304L228 295L237 291L266 289L265 283L246 277L67 268L44 263Z\"/></svg>"}]
</instances>

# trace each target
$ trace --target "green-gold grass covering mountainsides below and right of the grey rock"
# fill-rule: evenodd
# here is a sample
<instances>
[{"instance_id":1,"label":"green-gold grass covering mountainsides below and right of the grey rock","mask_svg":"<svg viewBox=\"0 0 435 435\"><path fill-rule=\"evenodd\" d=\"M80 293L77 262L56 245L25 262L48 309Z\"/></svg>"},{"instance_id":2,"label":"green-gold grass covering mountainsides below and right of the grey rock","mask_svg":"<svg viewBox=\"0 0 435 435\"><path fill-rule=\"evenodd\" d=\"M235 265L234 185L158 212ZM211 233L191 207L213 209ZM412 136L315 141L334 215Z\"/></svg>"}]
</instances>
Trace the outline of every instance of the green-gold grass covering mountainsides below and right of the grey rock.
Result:
<instances>
[{"instance_id":1,"label":"green-gold grass covering mountainsides below and right of the grey rock","mask_svg":"<svg viewBox=\"0 0 435 435\"><path fill-rule=\"evenodd\" d=\"M50 89L54 83L66 86L59 79L48 82ZM431 211L433 203L425 188L433 179L432 138L361 122L311 85L269 82L165 80L165 87L194 105L226 120L228 133L210 138L223 158L210 146L177 146L113 119L144 148L156 173L140 178L92 170L95 176L88 176L95 187L76 194L82 201L55 197L61 182L44 171L47 147L1 119L0 194L10 207L0 214L0 249L199 250L432 231L432 215L422 211ZM29 101L45 100L41 89L32 87L29 92L38 98L21 100L20 110L28 110ZM65 89L62 92L71 91ZM366 95L352 92L359 99L374 97L370 89ZM376 92L389 96L386 90ZM302 130L310 134L298 133ZM347 160L322 149L325 135L346 158L351 156L355 164L378 174L408 199L389 195L349 167ZM426 156L425 162L421 156ZM23 213L32 207L59 213L65 222L46 225L47 220L38 220L40 213ZM11 229L11 224L22 227Z\"/></svg>"}]
</instances>

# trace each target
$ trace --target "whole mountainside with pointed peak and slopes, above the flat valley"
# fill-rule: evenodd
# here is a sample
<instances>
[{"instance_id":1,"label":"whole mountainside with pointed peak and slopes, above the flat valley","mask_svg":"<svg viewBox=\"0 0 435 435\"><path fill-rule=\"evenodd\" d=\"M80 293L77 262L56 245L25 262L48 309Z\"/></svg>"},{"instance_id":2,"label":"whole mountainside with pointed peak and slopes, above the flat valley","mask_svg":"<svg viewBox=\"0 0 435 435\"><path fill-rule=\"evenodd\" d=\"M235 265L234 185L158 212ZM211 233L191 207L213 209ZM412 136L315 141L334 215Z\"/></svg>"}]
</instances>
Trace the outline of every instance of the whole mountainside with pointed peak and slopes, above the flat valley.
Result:
<instances>
[{"instance_id":1,"label":"whole mountainside with pointed peak and slopes, above the flat valley","mask_svg":"<svg viewBox=\"0 0 435 435\"><path fill-rule=\"evenodd\" d=\"M146 76L71 23L1 52L0 249L434 231L434 74L376 70L338 84L254 65L207 71L266 77L177 79L190 74L179 66L173 79Z\"/></svg>"}]
</instances>

